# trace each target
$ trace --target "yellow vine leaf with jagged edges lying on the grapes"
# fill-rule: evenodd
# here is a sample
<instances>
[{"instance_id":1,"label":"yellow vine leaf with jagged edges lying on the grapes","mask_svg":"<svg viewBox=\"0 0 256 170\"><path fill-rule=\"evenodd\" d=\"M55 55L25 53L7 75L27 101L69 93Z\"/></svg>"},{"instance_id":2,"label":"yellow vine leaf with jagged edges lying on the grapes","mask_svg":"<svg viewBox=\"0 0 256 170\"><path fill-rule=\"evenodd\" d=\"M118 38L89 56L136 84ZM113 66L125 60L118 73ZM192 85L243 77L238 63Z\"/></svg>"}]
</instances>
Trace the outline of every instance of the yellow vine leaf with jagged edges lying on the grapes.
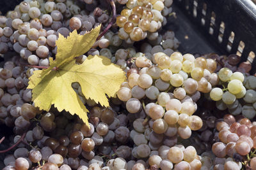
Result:
<instances>
[{"instance_id":1,"label":"yellow vine leaf with jagged edges lying on the grapes","mask_svg":"<svg viewBox=\"0 0 256 170\"><path fill-rule=\"evenodd\" d=\"M100 27L79 35L76 31L68 38L59 36L56 41L56 59L50 59L47 69L34 71L29 78L28 89L32 89L32 100L40 110L49 111L51 105L58 111L66 110L77 114L88 125L88 110L72 89L72 83L81 85L86 99L93 99L102 106L109 106L108 97L113 97L122 82L125 73L111 63L107 57L90 55L82 64L76 64L79 55L87 52L95 42Z\"/></svg>"}]
</instances>

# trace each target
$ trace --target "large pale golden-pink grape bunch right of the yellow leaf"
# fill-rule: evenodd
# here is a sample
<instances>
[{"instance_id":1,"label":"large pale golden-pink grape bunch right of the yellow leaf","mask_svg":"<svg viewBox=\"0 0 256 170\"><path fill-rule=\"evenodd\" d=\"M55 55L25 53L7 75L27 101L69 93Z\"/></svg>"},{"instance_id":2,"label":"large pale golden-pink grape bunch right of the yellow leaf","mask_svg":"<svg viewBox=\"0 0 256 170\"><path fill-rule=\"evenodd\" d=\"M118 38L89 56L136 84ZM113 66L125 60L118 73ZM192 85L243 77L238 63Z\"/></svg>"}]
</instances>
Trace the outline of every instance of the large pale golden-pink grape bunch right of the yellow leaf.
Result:
<instances>
[{"instance_id":1,"label":"large pale golden-pink grape bunch right of the yellow leaf","mask_svg":"<svg viewBox=\"0 0 256 170\"><path fill-rule=\"evenodd\" d=\"M129 113L140 112L143 108L151 118L148 124L152 131L164 134L174 141L174 145L177 134L187 139L191 130L202 127L202 119L193 113L200 92L210 92L212 85L218 83L218 76L213 73L216 69L214 60L195 59L191 54L179 52L169 57L158 52L154 53L152 61L143 55L137 57L135 65L137 68L127 71L128 81L117 92L118 98L126 102ZM149 99L147 103L145 98ZM167 145L173 144L169 142Z\"/></svg>"}]
</instances>

